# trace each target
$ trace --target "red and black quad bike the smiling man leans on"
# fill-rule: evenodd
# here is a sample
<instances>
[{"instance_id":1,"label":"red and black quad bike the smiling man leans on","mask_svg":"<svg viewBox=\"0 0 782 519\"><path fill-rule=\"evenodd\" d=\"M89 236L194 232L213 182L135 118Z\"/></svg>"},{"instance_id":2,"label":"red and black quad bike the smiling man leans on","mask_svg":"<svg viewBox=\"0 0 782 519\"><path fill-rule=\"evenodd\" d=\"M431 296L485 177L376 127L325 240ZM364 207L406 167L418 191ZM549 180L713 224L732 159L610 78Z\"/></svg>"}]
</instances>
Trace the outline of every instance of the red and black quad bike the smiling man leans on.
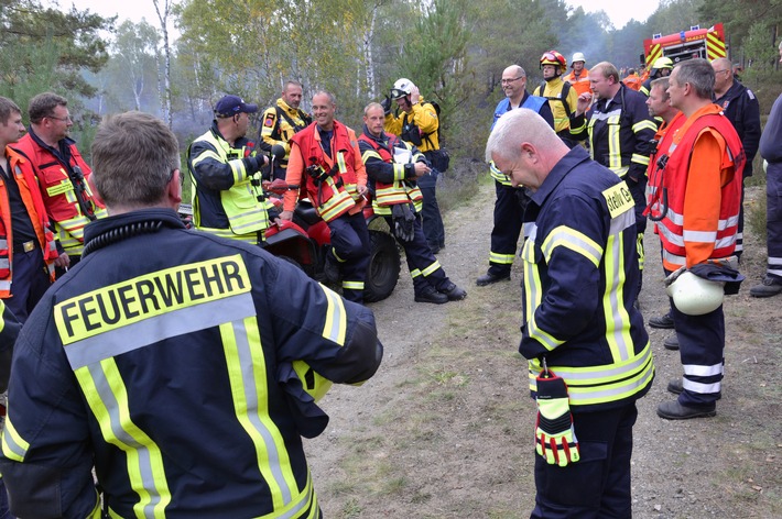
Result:
<instances>
[{"instance_id":1,"label":"red and black quad bike the smiling man leans on","mask_svg":"<svg viewBox=\"0 0 782 519\"><path fill-rule=\"evenodd\" d=\"M269 194L269 200L280 207L287 184L282 179L267 181L264 190ZM369 227L370 252L363 300L376 302L389 297L397 287L400 252L384 219L374 214L371 205L367 206L363 217ZM271 225L265 232L265 241L268 252L297 265L313 279L326 281L325 262L330 249L330 231L309 200L298 201L292 221Z\"/></svg>"}]
</instances>

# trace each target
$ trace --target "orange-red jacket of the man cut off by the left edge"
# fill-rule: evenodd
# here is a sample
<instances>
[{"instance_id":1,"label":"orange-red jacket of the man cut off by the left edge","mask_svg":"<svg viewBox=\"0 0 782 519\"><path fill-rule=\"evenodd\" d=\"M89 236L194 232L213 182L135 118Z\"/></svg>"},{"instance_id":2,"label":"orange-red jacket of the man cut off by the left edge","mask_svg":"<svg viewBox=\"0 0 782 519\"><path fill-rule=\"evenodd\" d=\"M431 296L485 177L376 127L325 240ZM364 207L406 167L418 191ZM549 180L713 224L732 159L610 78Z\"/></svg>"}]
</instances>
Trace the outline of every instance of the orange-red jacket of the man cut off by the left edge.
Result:
<instances>
[{"instance_id":1,"label":"orange-red jacket of the man cut off by the left edge","mask_svg":"<svg viewBox=\"0 0 782 519\"><path fill-rule=\"evenodd\" d=\"M54 241L54 234L48 229L46 208L41 199L41 191L35 181L30 161L19 152L6 147L8 157L8 174L13 175L19 186L19 194L30 221L35 230L43 258L48 266L48 274L54 281L53 262L59 256ZM11 278L13 274L13 234L11 229L11 205L6 185L6 177L0 175L0 298L11 297Z\"/></svg>"}]
</instances>

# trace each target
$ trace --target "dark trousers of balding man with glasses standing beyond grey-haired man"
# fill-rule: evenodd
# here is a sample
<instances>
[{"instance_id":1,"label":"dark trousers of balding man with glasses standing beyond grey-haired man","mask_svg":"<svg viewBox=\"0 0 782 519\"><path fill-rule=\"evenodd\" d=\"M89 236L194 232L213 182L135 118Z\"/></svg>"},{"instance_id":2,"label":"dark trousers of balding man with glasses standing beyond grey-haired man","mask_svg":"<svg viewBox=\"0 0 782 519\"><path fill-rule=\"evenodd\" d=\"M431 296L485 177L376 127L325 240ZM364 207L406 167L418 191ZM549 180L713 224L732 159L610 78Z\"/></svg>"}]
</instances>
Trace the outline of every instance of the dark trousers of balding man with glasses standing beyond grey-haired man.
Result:
<instances>
[{"instance_id":1,"label":"dark trousers of balding man with glasses standing beyond grey-haired man","mask_svg":"<svg viewBox=\"0 0 782 519\"><path fill-rule=\"evenodd\" d=\"M521 234L524 210L519 201L519 189L495 180L495 227L491 229L491 253L515 256ZM489 274L497 277L510 275L511 264L489 260Z\"/></svg>"}]
</instances>

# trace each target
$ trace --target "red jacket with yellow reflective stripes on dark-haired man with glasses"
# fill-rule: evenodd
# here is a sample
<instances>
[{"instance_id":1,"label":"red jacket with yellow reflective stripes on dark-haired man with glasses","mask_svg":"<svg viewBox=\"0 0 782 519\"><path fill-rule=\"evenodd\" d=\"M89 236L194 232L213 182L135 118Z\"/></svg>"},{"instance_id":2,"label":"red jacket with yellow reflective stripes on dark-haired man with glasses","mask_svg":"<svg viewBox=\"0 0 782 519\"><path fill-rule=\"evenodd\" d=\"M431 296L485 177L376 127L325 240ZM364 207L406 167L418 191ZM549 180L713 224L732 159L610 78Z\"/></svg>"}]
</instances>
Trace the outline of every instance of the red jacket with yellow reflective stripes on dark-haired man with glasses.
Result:
<instances>
[{"instance_id":1,"label":"red jacket with yellow reflective stripes on dark-haired man with glasses","mask_svg":"<svg viewBox=\"0 0 782 519\"><path fill-rule=\"evenodd\" d=\"M104 205L95 199L87 179L93 174L76 145L68 144L70 153L70 167L82 169L84 180L79 186L83 189L85 205L91 214L85 214L78 201L74 181L68 177L65 166L48 150L36 143L32 135L25 134L13 148L22 152L32 163L35 176L41 186L41 196L48 217L52 219L59 243L68 254L80 255L84 249L84 228L96 218L108 216Z\"/></svg>"}]
</instances>

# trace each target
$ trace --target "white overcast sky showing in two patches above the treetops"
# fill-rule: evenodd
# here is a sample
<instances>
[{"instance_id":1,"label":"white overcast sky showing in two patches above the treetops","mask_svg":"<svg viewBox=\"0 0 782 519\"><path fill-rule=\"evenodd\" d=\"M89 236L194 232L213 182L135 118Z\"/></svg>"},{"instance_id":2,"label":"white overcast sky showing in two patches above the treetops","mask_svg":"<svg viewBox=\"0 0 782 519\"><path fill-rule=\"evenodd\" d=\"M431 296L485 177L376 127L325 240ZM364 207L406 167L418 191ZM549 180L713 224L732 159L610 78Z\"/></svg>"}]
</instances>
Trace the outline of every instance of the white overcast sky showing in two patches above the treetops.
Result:
<instances>
[{"instance_id":1,"label":"white overcast sky showing in two patches above the treetops","mask_svg":"<svg viewBox=\"0 0 782 519\"><path fill-rule=\"evenodd\" d=\"M621 29L630 19L636 19L639 22L645 21L660 4L660 0L648 0L644 2L620 1L620 0L565 0L566 3L573 7L583 7L585 11L604 10L611 19L613 26ZM50 3L55 3L50 1ZM68 8L74 3L77 9L89 9L90 11L104 16L112 16L119 14L121 23L124 19L130 19L134 22L145 18L149 23L158 26L158 15L155 14L152 0L135 0L135 1L116 1L116 0L61 0L59 5ZM163 0L161 0L161 4Z\"/></svg>"}]
</instances>

